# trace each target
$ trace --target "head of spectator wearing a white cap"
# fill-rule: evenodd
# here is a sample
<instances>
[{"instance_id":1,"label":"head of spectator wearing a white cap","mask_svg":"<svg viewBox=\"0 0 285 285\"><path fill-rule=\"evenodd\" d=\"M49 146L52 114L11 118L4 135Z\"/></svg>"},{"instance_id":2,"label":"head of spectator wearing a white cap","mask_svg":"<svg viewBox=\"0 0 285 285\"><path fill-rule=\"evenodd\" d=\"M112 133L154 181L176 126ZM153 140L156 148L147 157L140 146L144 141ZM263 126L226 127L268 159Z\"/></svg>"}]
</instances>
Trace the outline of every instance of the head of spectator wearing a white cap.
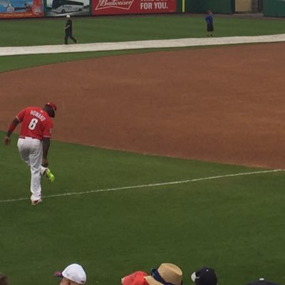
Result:
<instances>
[{"instance_id":1,"label":"head of spectator wearing a white cap","mask_svg":"<svg viewBox=\"0 0 285 285\"><path fill-rule=\"evenodd\" d=\"M62 272L56 271L53 276L61 278L60 285L86 284L86 273L79 264L70 264Z\"/></svg>"}]
</instances>

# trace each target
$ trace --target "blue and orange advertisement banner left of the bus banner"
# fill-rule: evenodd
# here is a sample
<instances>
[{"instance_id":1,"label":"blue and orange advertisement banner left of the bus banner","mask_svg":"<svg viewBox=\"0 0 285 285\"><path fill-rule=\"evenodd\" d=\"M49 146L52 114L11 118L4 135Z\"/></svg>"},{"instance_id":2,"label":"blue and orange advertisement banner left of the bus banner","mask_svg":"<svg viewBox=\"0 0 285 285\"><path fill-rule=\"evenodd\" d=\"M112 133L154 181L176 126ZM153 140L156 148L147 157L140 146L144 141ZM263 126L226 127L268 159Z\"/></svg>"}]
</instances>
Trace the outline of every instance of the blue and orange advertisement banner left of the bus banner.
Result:
<instances>
[{"instance_id":1,"label":"blue and orange advertisement banner left of the bus banner","mask_svg":"<svg viewBox=\"0 0 285 285\"><path fill-rule=\"evenodd\" d=\"M0 18L43 17L41 0L0 0Z\"/></svg>"}]
</instances>

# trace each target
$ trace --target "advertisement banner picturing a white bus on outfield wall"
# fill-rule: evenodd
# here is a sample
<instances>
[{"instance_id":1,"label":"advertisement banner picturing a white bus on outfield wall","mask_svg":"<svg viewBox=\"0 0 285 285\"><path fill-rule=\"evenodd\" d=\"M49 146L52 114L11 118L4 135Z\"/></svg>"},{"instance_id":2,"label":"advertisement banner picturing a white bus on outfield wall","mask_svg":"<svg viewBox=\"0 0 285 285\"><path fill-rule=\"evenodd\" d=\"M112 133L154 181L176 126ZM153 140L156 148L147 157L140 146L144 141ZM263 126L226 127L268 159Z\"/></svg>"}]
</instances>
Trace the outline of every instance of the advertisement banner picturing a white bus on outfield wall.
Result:
<instances>
[{"instance_id":1,"label":"advertisement banner picturing a white bus on outfield wall","mask_svg":"<svg viewBox=\"0 0 285 285\"><path fill-rule=\"evenodd\" d=\"M90 15L90 0L46 0L46 16L56 17L67 14Z\"/></svg>"}]
</instances>

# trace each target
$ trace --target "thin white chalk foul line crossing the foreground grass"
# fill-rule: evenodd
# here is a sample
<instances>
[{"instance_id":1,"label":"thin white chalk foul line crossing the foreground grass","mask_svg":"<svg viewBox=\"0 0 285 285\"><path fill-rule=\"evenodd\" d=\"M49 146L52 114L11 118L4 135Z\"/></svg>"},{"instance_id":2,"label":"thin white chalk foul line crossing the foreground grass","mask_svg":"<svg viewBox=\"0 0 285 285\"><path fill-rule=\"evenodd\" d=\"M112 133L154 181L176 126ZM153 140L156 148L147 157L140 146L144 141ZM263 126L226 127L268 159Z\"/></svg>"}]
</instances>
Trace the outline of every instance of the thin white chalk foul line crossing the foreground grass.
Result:
<instances>
[{"instance_id":1,"label":"thin white chalk foul line crossing the foreground grass","mask_svg":"<svg viewBox=\"0 0 285 285\"><path fill-rule=\"evenodd\" d=\"M90 193L110 192L110 191L128 190L128 189L136 189L136 188L144 188L144 187L157 187L157 186L164 186L164 185L176 185L176 184L184 184L184 183L189 183L189 182L198 182L198 181L204 181L204 180L214 180L214 179L219 179L219 178L236 177L236 176L244 176L244 175L257 175L257 174L262 174L262 173L271 173L271 172L280 172L280 171L284 171L284 170L276 169L276 170L261 170L261 171L252 171L252 172L240 172L240 173L234 173L234 174L217 175L217 176L210 176L210 177L201 177L201 178L194 178L194 179L180 180L180 181L172 181L172 182L153 183L153 184L146 184L146 185L133 185L133 186L106 188L106 189L81 191L81 192L67 192L67 193L61 193L61 194L56 194L56 195L43 196L43 198L46 199L46 198L53 198L53 197L64 197L64 196L71 196L71 195L85 195L85 194L90 194ZM6 199L6 200L0 200L0 203L18 202L18 201L23 201L23 200L28 200L28 199L29 198Z\"/></svg>"}]
</instances>

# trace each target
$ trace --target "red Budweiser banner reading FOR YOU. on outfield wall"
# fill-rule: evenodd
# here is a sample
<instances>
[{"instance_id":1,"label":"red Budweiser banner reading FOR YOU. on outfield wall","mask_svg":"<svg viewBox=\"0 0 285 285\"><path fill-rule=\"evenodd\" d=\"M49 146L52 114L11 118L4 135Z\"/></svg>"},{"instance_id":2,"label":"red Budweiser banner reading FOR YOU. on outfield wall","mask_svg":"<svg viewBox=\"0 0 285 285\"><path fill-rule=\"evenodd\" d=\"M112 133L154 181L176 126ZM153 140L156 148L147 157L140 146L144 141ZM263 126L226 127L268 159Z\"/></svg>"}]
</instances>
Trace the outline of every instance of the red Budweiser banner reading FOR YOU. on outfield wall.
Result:
<instances>
[{"instance_id":1,"label":"red Budweiser banner reading FOR YOU. on outfield wall","mask_svg":"<svg viewBox=\"0 0 285 285\"><path fill-rule=\"evenodd\" d=\"M93 0L93 15L176 12L176 0Z\"/></svg>"}]
</instances>

